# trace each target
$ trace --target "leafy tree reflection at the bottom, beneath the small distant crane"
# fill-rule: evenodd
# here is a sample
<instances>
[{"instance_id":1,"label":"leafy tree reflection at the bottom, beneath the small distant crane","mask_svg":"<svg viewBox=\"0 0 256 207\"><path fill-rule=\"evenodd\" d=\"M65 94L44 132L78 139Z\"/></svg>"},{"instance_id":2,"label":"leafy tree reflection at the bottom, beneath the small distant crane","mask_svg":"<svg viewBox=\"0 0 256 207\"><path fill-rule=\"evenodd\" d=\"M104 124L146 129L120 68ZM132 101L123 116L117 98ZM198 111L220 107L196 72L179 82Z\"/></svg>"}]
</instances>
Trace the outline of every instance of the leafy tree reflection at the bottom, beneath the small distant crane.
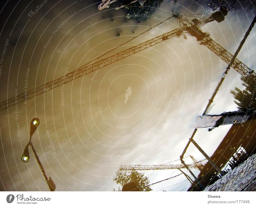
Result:
<instances>
[{"instance_id":1,"label":"leafy tree reflection at the bottom, beneath the small distant crane","mask_svg":"<svg viewBox=\"0 0 256 207\"><path fill-rule=\"evenodd\" d=\"M122 186L132 181L137 185L140 191L152 190L148 186L149 185L148 177L144 176L144 173L139 173L136 170L126 171L126 170L119 169L116 172L116 176L114 177L113 180L116 181L117 184L120 184ZM114 189L113 191L121 191L121 190Z\"/></svg>"}]
</instances>

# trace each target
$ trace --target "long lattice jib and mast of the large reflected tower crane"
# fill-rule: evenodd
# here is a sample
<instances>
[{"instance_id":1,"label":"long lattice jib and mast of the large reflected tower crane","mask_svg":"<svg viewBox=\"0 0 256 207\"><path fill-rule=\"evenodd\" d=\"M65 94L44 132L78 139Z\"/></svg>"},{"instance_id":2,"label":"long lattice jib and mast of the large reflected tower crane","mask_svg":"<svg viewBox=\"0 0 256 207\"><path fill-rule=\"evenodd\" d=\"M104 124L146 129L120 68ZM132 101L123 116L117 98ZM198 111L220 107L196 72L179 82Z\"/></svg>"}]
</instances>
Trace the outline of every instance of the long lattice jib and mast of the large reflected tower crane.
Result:
<instances>
[{"instance_id":1,"label":"long lattice jib and mast of the large reflected tower crane","mask_svg":"<svg viewBox=\"0 0 256 207\"><path fill-rule=\"evenodd\" d=\"M84 75L86 75L88 73L99 70L102 67L105 67L112 63L115 63L121 59L124 59L125 57L129 57L130 55L140 52L141 50L152 47L156 44L159 44L159 43L166 41L168 39L171 39L173 37L180 37L181 34L184 32L187 32L188 34L195 36L200 45L205 45L207 48L212 50L213 53L218 55L224 62L230 63L230 60L232 59L233 55L231 53L229 53L225 48L221 47L217 42L215 42L210 37L209 33L207 33L207 32L204 33L199 28L199 26L197 26L198 22L199 22L197 19L193 19L192 21L189 21L187 18L181 17L181 22L182 22L183 26L181 26L180 28L176 28L170 32L159 35L153 39L150 39L148 41L140 43L136 46L128 48L120 53L109 56L109 57L102 59L100 61L97 61L95 63L92 63L93 61L91 61L90 63L83 65L79 69L74 70L74 71L66 74L63 77L60 77L53 81L50 81L44 85L41 85L35 89L30 90L28 92L24 92L24 93L17 95L9 100L5 100L0 103L0 111L7 109L10 106L14 106L17 103L31 99L34 96L37 96L44 92L50 91L53 88L56 88L62 84L68 83L70 81L73 81L76 78L83 77ZM231 67L233 67L239 74L241 74L244 77L246 77L252 73L255 74L255 72L253 70L248 68L244 63L242 63L237 58L235 59L235 61Z\"/></svg>"}]
</instances>

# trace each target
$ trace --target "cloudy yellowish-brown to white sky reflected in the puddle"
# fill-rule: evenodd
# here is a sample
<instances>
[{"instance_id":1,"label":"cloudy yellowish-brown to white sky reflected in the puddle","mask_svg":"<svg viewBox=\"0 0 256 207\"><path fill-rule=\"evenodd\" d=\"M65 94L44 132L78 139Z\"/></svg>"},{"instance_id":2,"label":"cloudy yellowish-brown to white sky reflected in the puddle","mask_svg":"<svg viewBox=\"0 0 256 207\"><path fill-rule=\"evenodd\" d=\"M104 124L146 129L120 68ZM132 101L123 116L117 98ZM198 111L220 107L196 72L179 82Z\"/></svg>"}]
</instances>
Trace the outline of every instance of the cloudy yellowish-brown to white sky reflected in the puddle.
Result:
<instances>
[{"instance_id":1,"label":"cloudy yellowish-brown to white sky reflected in the puddle","mask_svg":"<svg viewBox=\"0 0 256 207\"><path fill-rule=\"evenodd\" d=\"M0 53L5 51L1 102L62 77L159 24L154 17L167 19L178 12L191 20L213 12L204 1L164 1L153 18L137 24L125 20L125 10L111 6L98 10L99 1L47 1L36 12L41 3L19 3L14 8L16 3L7 2L0 14L4 17ZM34 15L28 16L29 12ZM224 21L202 27L231 54L254 17L253 12L243 10L236 15L228 12ZM108 55L179 26L171 18ZM121 36L116 40L118 33ZM37 186L49 190L32 152L29 162L20 161L34 117L40 119L40 126L32 143L57 191L110 191L116 188L113 176L120 165L179 159L196 117L204 111L227 64L197 44L195 37L174 37L165 43L0 111L1 190L37 191ZM238 55L252 70L255 43L251 32ZM231 69L209 114L237 110L230 94L235 87L242 88L240 75ZM211 132L198 129L194 139L211 155L230 127ZM194 146L188 148L189 154L197 160L204 158ZM147 175L155 182L172 173L151 171Z\"/></svg>"}]
</instances>

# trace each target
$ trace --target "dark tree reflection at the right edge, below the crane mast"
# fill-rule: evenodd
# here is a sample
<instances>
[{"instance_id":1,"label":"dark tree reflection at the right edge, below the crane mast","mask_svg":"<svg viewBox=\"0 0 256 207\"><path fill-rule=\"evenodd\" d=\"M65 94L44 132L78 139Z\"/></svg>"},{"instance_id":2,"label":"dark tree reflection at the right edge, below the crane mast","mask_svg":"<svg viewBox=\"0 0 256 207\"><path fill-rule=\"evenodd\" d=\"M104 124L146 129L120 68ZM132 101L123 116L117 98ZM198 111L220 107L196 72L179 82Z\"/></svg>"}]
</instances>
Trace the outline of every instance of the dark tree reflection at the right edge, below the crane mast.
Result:
<instances>
[{"instance_id":1,"label":"dark tree reflection at the right edge, below the crane mast","mask_svg":"<svg viewBox=\"0 0 256 207\"><path fill-rule=\"evenodd\" d=\"M230 91L236 99L234 102L238 106L237 108L241 111L256 108L256 76L249 75L247 77L241 77L241 80L245 89L242 91L238 87L235 87L235 90Z\"/></svg>"}]
</instances>

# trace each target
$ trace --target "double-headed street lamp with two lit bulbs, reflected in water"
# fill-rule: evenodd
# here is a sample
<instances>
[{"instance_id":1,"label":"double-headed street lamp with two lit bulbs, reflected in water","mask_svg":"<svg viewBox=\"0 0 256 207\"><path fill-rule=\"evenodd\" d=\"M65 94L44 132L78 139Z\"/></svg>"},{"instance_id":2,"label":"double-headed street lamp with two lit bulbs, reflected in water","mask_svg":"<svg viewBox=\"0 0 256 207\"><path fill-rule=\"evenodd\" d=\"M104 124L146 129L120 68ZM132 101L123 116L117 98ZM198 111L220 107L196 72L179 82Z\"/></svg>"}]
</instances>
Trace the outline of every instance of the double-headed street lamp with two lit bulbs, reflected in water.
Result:
<instances>
[{"instance_id":1,"label":"double-headed street lamp with two lit bulbs, reflected in water","mask_svg":"<svg viewBox=\"0 0 256 207\"><path fill-rule=\"evenodd\" d=\"M34 119L32 119L31 122L30 122L29 142L28 142L27 146L25 147L25 149L24 149L24 151L23 151L23 154L22 154L22 156L21 156L21 161L22 161L22 162L25 162L25 163L28 162L28 160L29 160L29 150L28 150L28 146L30 145L31 148L32 148L32 152L33 152L34 155L35 155L36 161L37 161L37 163L38 163L38 165L39 165L39 167L40 167L40 169L41 169L41 171L42 171L42 173L43 173L43 175L44 175L44 179L45 179L45 181L46 181L46 183L47 183L47 185L48 185L50 191L55 191L56 186L55 186L55 184L54 184L54 182L53 182L53 180L52 180L51 177L47 178L47 176L46 176L46 174L45 174L45 171L44 171L44 167L43 167L42 163L40 162L39 157L38 157L37 154L36 154L36 150L35 150L35 148L34 148L32 142L31 142L32 135L33 135L34 132L36 131L37 126L38 126L39 124L40 124L40 122L39 122L39 119L38 119L38 118L34 118Z\"/></svg>"}]
</instances>

